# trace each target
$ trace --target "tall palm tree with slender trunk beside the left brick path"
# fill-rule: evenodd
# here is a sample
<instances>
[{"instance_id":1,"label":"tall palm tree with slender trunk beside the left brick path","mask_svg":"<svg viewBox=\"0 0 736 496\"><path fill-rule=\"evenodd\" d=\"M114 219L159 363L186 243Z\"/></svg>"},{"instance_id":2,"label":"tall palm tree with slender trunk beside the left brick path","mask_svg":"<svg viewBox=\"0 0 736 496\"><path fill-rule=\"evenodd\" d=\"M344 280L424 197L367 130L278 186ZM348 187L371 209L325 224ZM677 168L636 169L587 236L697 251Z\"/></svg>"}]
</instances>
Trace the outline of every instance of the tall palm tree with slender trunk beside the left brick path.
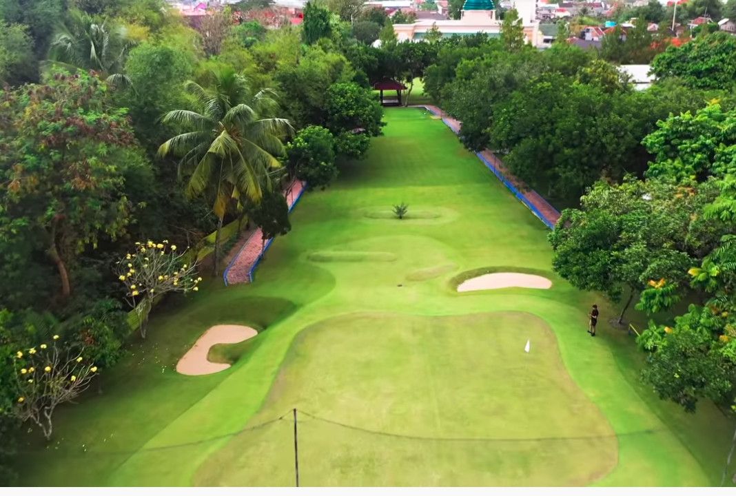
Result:
<instances>
[{"instance_id":1,"label":"tall palm tree with slender trunk beside the left brick path","mask_svg":"<svg viewBox=\"0 0 736 496\"><path fill-rule=\"evenodd\" d=\"M188 81L187 91L197 110L171 110L161 119L185 129L162 144L161 156L180 157L179 174L186 177L185 194L213 199L217 216L214 273L217 274L222 220L230 207L244 211L244 202L258 204L263 189L272 187L272 171L281 169L282 138L291 124L275 118L275 93L253 95L232 68L211 71L207 87Z\"/></svg>"}]
</instances>

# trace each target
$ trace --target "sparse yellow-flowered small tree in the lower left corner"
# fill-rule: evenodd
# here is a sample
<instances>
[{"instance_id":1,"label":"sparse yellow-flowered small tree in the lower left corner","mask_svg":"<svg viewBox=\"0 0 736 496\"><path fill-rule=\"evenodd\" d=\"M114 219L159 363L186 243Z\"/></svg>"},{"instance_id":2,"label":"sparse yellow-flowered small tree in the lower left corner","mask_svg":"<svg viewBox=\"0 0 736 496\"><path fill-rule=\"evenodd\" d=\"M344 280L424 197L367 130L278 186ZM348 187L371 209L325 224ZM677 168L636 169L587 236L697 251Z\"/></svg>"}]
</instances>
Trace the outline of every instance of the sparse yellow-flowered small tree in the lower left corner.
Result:
<instances>
[{"instance_id":1,"label":"sparse yellow-flowered small tree in the lower left corner","mask_svg":"<svg viewBox=\"0 0 736 496\"><path fill-rule=\"evenodd\" d=\"M60 347L58 339L54 335L50 344L41 343L13 355L18 397L12 413L22 422L35 422L46 439L52 435L56 407L82 394L99 371L85 360L83 347Z\"/></svg>"}]
</instances>

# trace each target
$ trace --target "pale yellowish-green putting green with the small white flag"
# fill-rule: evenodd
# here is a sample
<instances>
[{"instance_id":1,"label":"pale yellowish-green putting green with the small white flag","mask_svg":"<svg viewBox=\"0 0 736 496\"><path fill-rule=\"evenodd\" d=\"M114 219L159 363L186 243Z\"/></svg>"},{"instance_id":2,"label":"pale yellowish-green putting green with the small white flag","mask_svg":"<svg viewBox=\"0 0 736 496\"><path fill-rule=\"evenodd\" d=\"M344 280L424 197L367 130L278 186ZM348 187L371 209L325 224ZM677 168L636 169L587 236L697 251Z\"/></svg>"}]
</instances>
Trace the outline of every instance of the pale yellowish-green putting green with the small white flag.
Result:
<instances>
[{"instance_id":1,"label":"pale yellowish-green putting green with the small white flag","mask_svg":"<svg viewBox=\"0 0 736 496\"><path fill-rule=\"evenodd\" d=\"M319 322L297 337L252 425L294 407L364 429L302 415L300 456L316 461L302 474L310 486L581 485L618 458L612 428L529 313ZM234 437L195 483L288 485L290 427Z\"/></svg>"}]
</instances>

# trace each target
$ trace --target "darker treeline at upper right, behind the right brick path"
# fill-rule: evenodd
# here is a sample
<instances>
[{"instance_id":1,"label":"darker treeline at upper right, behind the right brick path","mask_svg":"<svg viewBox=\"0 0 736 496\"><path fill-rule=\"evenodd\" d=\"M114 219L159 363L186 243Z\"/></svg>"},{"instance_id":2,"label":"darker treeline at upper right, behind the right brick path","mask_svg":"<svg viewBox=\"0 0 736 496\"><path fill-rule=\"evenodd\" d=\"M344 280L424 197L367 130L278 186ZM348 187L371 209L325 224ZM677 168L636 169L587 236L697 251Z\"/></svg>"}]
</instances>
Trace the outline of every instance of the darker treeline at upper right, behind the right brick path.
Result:
<instances>
[{"instance_id":1,"label":"darker treeline at upper right, behind the right brick path","mask_svg":"<svg viewBox=\"0 0 736 496\"><path fill-rule=\"evenodd\" d=\"M468 148L495 150L532 188L576 205L599 177L643 174L652 156L642 140L660 119L714 98L732 105L735 48L723 33L672 46L654 60L662 81L634 91L614 65L565 43L540 52L467 37L442 44L425 91L462 121ZM730 62L704 69L698 57Z\"/></svg>"}]
</instances>

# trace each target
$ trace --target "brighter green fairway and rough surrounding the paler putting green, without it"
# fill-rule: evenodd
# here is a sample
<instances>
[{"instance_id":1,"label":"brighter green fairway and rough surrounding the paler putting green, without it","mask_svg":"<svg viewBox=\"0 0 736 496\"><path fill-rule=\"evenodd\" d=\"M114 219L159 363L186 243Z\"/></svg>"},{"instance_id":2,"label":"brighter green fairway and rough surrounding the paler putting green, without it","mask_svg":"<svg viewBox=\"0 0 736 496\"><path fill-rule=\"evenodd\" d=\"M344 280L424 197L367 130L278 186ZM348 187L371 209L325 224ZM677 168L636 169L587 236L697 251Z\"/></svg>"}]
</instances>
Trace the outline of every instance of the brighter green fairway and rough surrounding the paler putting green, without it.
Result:
<instances>
[{"instance_id":1,"label":"brighter green fairway and rough surrounding the paler putting green, without it","mask_svg":"<svg viewBox=\"0 0 736 496\"><path fill-rule=\"evenodd\" d=\"M305 327L353 312L432 316L527 311L551 327L571 377L619 434L618 466L601 483L718 483L732 425L711 405L703 404L696 415L687 416L676 406L659 402L637 380L641 356L620 331L600 326L601 336L590 339L584 333L585 314L593 301L590 294L554 276L553 288L542 294L516 289L459 295L451 290L447 281L453 274L481 266L548 270L551 253L545 229L461 149L441 121L421 111L400 109L387 110L386 120L386 137L375 141L367 160L344 168L333 188L302 199L293 214L294 230L273 244L255 284L223 289L213 283L191 304L156 313L146 349L110 372L105 394L60 411L57 431L63 439L58 449L34 451L35 461L21 467L24 482L214 483L208 459L226 453L216 454L223 447L227 450L233 433L249 425L261 410L280 367L285 366L284 373L295 370L295 351L289 352L289 347ZM408 202L410 212L439 215L403 222L374 215L401 201ZM389 252L395 260L308 260L313 252L336 250ZM439 275L428 278L434 274ZM257 300L264 297L280 300ZM604 302L598 303L604 316L612 313ZM244 355L226 372L202 378L172 372L176 358L199 333L221 322L268 328L244 347ZM305 383L312 380L296 377ZM298 384L291 387L298 389ZM335 392L348 393L350 389ZM271 403L269 399L266 408ZM314 411L319 409L314 405L311 409L322 414ZM327 413L330 417L333 412ZM576 418L570 422L574 425ZM258 432L265 444L289 442L283 422ZM339 440L314 434L325 442L325 449L330 441ZM375 442L370 441L375 436L368 438L364 442ZM29 439L26 449L35 450L34 443ZM411 447L406 453L411 454ZM85 463L84 472L73 470L80 462ZM252 463L261 466L258 459ZM288 483L289 464L282 467L286 472L274 474L275 481ZM304 470L309 473L310 468ZM375 467L355 464L353 470L369 478ZM312 476L317 483L330 481L324 470L313 471Z\"/></svg>"}]
</instances>

